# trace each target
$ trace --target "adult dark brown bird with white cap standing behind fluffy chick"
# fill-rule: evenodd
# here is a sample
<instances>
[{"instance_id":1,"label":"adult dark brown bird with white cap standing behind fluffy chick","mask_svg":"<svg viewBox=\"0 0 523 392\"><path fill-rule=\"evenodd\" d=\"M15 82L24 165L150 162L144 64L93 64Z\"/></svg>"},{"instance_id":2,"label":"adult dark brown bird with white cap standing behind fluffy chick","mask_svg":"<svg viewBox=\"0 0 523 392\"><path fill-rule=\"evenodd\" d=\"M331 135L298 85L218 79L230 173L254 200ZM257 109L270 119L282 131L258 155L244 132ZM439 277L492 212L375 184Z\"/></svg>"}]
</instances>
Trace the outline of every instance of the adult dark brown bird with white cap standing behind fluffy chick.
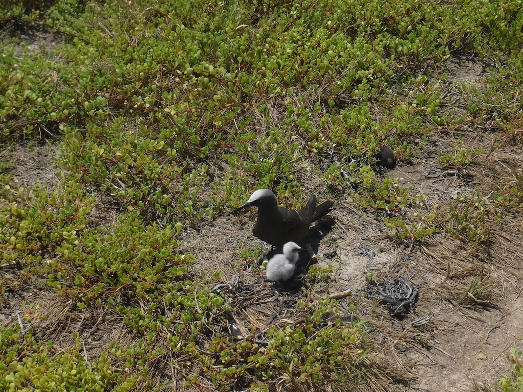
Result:
<instances>
[{"instance_id":1,"label":"adult dark brown bird with white cap standing behind fluffy chick","mask_svg":"<svg viewBox=\"0 0 523 392\"><path fill-rule=\"evenodd\" d=\"M287 210L278 206L276 195L272 191L258 189L233 214L251 206L258 207L253 234L281 249L289 241L300 243L309 233L311 223L328 213L333 202L328 200L316 206L316 196L311 195L309 202L300 211Z\"/></svg>"}]
</instances>

